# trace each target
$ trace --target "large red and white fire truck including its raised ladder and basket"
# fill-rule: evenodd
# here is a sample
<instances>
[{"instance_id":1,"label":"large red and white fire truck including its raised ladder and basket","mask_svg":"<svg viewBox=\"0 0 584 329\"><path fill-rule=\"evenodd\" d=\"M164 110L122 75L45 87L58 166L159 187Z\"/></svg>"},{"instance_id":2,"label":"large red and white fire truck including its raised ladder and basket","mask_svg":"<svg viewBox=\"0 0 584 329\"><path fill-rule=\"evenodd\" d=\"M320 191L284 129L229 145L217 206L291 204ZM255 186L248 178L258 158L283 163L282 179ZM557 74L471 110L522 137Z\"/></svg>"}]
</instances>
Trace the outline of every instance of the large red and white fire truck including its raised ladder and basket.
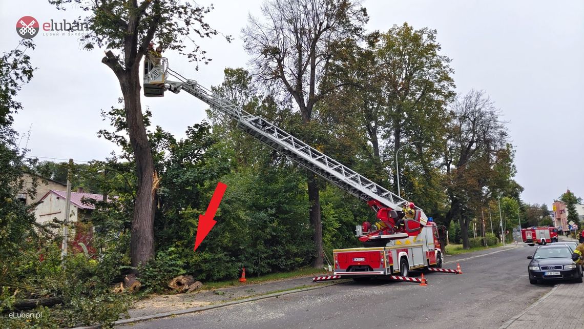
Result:
<instances>
[{"instance_id":1,"label":"large red and white fire truck including its raised ladder and basket","mask_svg":"<svg viewBox=\"0 0 584 329\"><path fill-rule=\"evenodd\" d=\"M196 81L183 78L168 68L166 58L158 58L157 63L152 63L147 58L144 68L145 96L161 97L165 91L184 91L195 96L211 108L236 120L239 129L338 186L342 191L364 200L376 212L376 229L361 225L356 227L356 237L364 244L363 248L333 251L335 275L331 276L332 279L365 280L393 273L408 276L413 269L442 267L443 252L440 249L437 226L422 209L345 167L263 117L252 115ZM178 81L169 81L169 76ZM409 211L409 216L405 216L405 209ZM403 227L397 225L398 221L402 221Z\"/></svg>"}]
</instances>

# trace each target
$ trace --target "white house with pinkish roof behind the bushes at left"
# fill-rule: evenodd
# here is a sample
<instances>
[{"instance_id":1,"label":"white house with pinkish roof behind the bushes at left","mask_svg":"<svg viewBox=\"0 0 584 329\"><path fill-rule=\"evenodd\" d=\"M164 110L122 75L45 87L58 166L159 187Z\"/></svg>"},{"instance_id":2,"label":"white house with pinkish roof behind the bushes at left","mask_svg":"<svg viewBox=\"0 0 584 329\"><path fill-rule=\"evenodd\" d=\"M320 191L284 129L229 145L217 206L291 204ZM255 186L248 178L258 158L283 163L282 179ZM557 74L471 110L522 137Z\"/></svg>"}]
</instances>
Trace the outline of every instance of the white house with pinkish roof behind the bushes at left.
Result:
<instances>
[{"instance_id":1,"label":"white house with pinkish roof behind the bushes at left","mask_svg":"<svg viewBox=\"0 0 584 329\"><path fill-rule=\"evenodd\" d=\"M84 202L84 199L103 200L103 195L94 193L71 192L71 206L69 207L69 221L89 221L91 212L95 207L91 203ZM67 204L67 191L51 189L43 198L39 205L34 208L36 221L43 223L57 217L58 220L65 219L65 205Z\"/></svg>"}]
</instances>

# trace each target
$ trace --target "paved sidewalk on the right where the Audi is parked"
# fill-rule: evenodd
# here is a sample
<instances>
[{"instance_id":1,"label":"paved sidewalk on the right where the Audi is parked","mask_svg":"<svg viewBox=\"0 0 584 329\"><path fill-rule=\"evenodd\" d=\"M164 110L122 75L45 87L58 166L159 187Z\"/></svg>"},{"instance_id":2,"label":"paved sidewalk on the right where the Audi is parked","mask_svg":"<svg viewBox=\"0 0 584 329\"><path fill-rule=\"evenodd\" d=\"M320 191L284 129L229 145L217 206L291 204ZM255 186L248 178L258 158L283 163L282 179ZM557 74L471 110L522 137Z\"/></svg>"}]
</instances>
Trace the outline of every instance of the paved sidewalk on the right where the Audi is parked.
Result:
<instances>
[{"instance_id":1,"label":"paved sidewalk on the right where the Audi is parked","mask_svg":"<svg viewBox=\"0 0 584 329\"><path fill-rule=\"evenodd\" d=\"M578 242L572 237L560 237L559 240ZM541 326L562 329L584 328L583 306L584 283L559 283L527 310L511 318L499 329L523 329Z\"/></svg>"}]
</instances>

